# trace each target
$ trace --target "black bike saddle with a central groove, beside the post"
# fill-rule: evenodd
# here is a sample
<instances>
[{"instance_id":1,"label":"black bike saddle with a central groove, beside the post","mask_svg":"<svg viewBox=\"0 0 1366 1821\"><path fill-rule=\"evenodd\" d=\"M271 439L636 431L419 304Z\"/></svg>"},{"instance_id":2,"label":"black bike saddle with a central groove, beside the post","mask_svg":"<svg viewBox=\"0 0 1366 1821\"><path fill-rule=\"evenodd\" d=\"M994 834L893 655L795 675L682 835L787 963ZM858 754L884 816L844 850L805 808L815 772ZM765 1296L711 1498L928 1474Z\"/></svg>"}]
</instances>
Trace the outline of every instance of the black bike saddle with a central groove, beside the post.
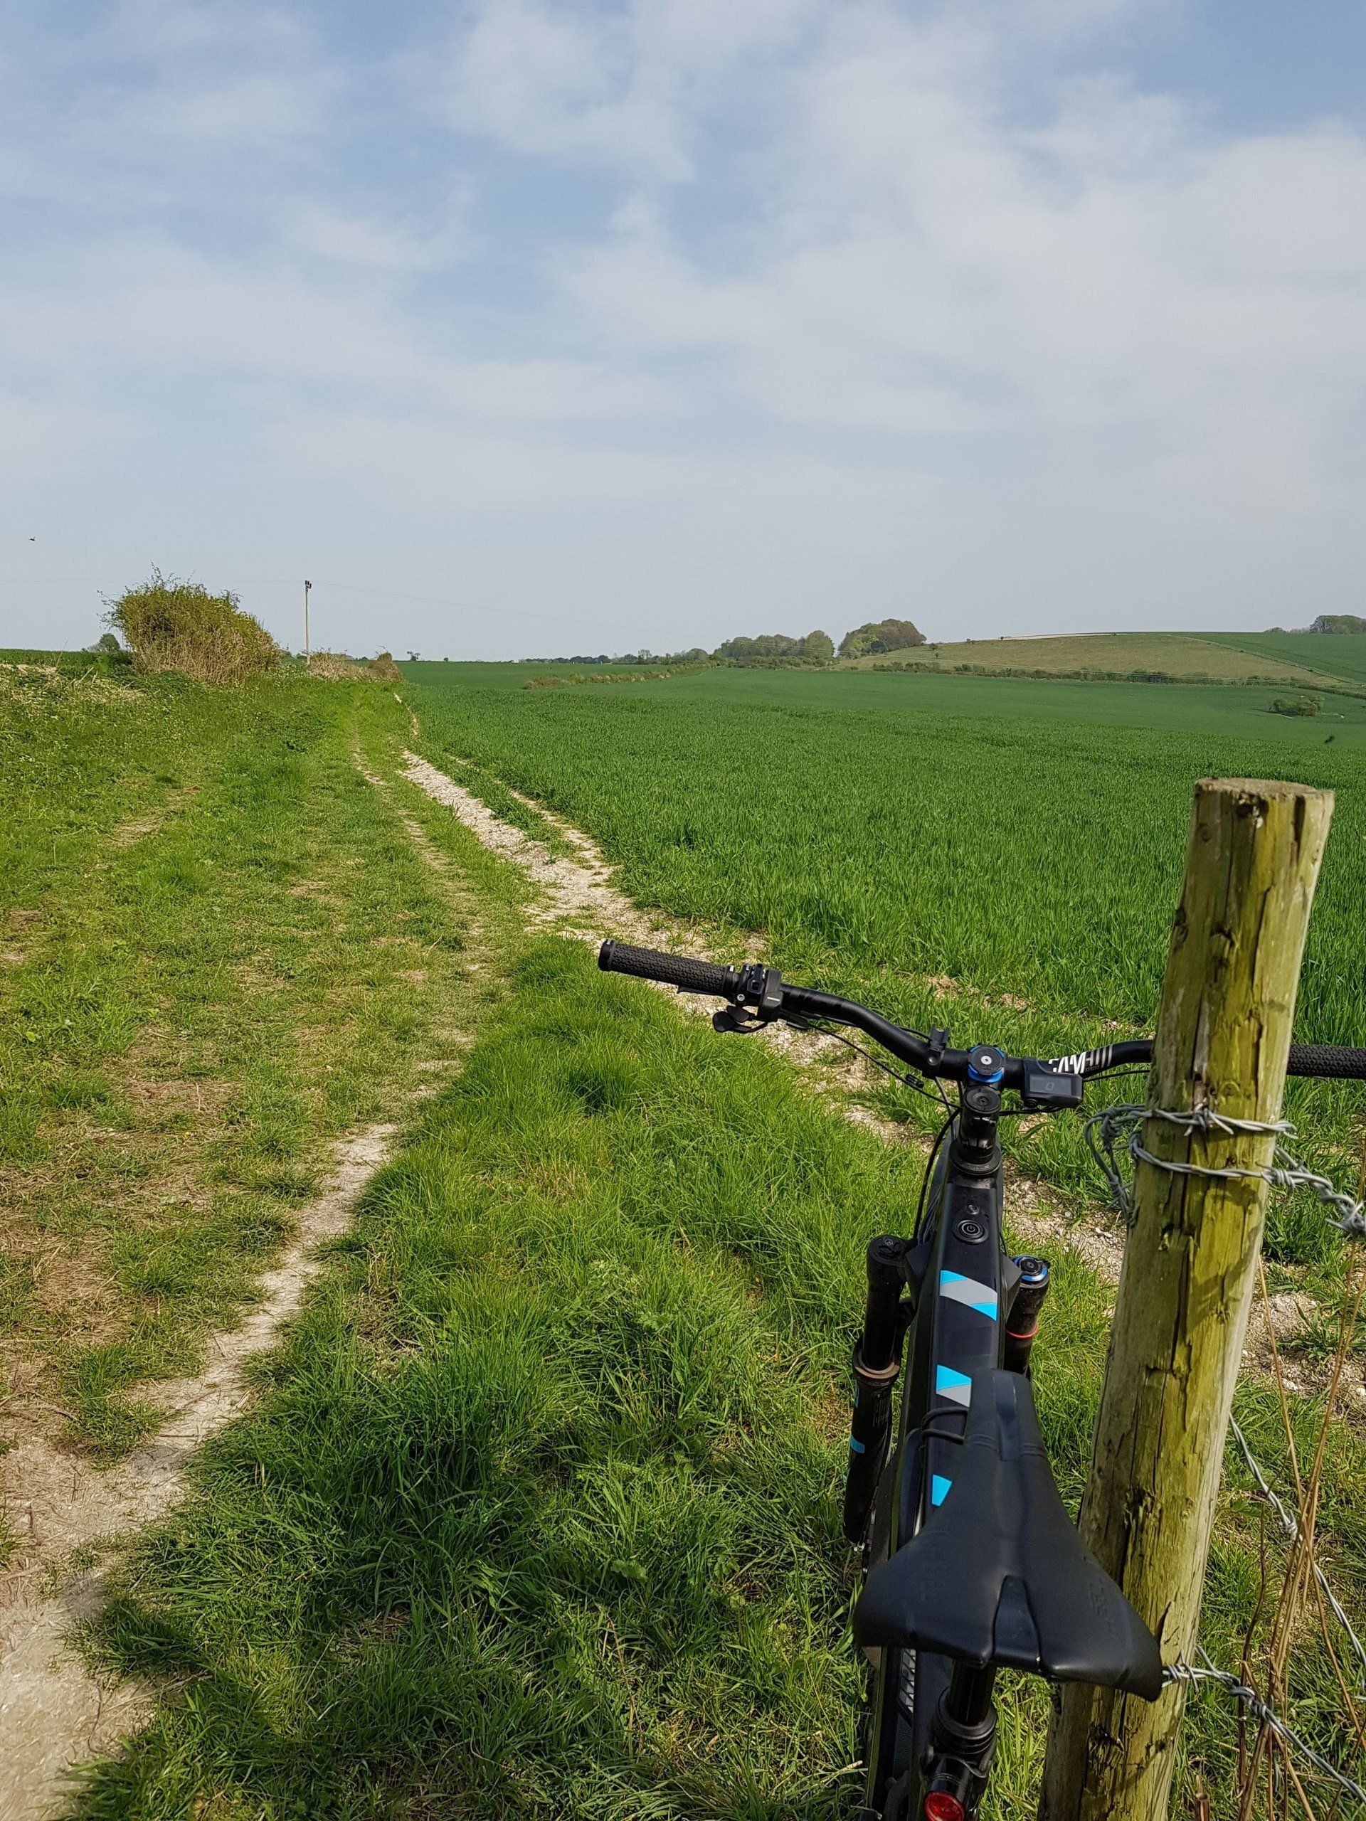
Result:
<instances>
[{"instance_id":1,"label":"black bike saddle with a central groove, beside the post","mask_svg":"<svg viewBox=\"0 0 1366 1821\"><path fill-rule=\"evenodd\" d=\"M858 1644L914 1646L1155 1701L1157 1639L1067 1517L1029 1380L973 1378L962 1466L923 1530L867 1579Z\"/></svg>"}]
</instances>

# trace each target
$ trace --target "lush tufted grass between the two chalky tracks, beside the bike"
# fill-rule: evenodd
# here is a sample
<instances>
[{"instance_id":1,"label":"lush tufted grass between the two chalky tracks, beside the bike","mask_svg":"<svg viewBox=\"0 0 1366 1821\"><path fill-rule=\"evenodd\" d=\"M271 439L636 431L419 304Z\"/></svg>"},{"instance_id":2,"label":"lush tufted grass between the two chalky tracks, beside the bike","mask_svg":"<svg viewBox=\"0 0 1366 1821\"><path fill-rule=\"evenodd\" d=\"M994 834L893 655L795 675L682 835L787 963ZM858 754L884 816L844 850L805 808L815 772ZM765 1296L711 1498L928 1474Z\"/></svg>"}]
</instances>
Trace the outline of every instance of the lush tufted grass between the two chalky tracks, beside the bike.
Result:
<instances>
[{"instance_id":1,"label":"lush tufted grass between the two chalky tracks, beside the bike","mask_svg":"<svg viewBox=\"0 0 1366 1821\"><path fill-rule=\"evenodd\" d=\"M847 1814L845 1364L863 1242L905 1227L918 1153L576 943L510 949L506 992L259 1409L124 1573L97 1648L173 1692L86 1821ZM1106 1313L1064 1260L1036 1358L1073 1499ZM1240 1415L1284 1468L1268 1395ZM1364 1466L1344 1433L1333 1484ZM1259 1601L1240 1484L1206 1606L1233 1664ZM1346 1491L1322 1526L1357 1601ZM1335 1745L1308 1641L1293 1697ZM1033 1816L1044 1719L1007 1679L996 1821ZM1215 1812L1235 1755L1204 1703L1184 1777Z\"/></svg>"}]
</instances>

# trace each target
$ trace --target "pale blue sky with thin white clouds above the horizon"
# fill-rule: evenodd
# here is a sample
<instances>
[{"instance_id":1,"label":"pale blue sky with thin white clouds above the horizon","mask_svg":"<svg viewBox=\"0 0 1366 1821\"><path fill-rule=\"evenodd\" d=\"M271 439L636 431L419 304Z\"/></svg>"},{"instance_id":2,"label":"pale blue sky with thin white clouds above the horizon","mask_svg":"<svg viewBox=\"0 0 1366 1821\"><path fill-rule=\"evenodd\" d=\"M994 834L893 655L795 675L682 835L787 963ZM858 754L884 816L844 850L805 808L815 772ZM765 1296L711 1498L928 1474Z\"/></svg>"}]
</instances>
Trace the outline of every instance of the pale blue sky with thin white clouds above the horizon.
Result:
<instances>
[{"instance_id":1,"label":"pale blue sky with thin white clouds above the horizon","mask_svg":"<svg viewBox=\"0 0 1366 1821\"><path fill-rule=\"evenodd\" d=\"M1359 0L9 0L0 643L1366 612Z\"/></svg>"}]
</instances>

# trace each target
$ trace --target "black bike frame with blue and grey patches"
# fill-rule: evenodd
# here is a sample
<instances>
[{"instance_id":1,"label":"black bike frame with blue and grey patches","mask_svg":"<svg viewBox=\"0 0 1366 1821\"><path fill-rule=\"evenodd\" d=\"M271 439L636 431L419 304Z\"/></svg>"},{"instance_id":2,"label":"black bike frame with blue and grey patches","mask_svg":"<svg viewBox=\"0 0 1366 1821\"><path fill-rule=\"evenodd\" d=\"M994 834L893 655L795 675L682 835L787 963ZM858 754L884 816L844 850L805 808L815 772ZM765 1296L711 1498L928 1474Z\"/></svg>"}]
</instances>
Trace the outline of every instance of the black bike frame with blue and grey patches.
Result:
<instances>
[{"instance_id":1,"label":"black bike frame with blue and grey patches","mask_svg":"<svg viewBox=\"0 0 1366 1821\"><path fill-rule=\"evenodd\" d=\"M951 1142L934 1169L922 1229L912 1242L900 1242L900 1278L909 1293L898 1302L900 1333L894 1338L903 1355L900 1426L872 1499L865 1568L892 1555L947 1497L973 1373L1027 1366L1033 1331L1011 1335L1007 1324L1022 1273L1002 1240L998 1111L1000 1094L993 1089L963 1091ZM874 1240L869 1251L869 1315L874 1320L874 1256L885 1269L894 1244ZM882 1251L874 1255L874 1247ZM865 1337L869 1333L865 1328ZM871 1655L878 1661L869 1703L863 1816L869 1821L874 1816L880 1821L920 1817L933 1774L927 1765L954 1748L960 1761L974 1765L965 1783L967 1812L974 1814L994 1746L994 1672L963 1670L929 1652Z\"/></svg>"}]
</instances>

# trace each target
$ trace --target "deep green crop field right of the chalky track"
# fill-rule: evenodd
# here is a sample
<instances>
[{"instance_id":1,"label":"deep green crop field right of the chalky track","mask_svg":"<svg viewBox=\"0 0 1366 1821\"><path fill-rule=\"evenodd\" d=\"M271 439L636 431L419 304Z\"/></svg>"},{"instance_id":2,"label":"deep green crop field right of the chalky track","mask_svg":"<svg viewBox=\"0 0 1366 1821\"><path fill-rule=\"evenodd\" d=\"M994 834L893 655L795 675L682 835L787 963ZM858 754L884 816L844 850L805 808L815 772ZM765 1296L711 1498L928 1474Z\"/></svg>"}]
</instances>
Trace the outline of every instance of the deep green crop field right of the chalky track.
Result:
<instances>
[{"instance_id":1,"label":"deep green crop field right of the chalky track","mask_svg":"<svg viewBox=\"0 0 1366 1821\"><path fill-rule=\"evenodd\" d=\"M1357 907L1366 703L1268 714L1260 690L714 670L641 690L523 692L410 666L433 756L474 759L597 836L643 901L761 931L780 960L1027 998L1044 1051L1160 982L1189 792L1293 776L1342 796L1302 1029L1366 1027ZM909 998L907 998L909 994Z\"/></svg>"}]
</instances>

